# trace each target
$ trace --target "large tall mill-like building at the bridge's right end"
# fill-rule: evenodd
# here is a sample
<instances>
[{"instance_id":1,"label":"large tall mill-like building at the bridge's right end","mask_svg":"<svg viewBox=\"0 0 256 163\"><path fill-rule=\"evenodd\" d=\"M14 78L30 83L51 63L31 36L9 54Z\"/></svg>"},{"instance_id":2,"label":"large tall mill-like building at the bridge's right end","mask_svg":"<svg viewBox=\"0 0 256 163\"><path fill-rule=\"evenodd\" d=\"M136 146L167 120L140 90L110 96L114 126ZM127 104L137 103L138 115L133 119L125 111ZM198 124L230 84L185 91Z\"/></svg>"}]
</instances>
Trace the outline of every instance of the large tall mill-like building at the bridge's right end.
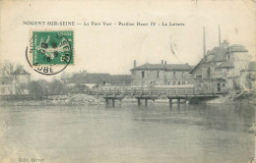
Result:
<instances>
[{"instance_id":1,"label":"large tall mill-like building at the bridge's right end","mask_svg":"<svg viewBox=\"0 0 256 163\"><path fill-rule=\"evenodd\" d=\"M190 72L194 85L216 91L244 87L242 72L247 72L250 58L243 45L229 46L224 40L220 47L208 51Z\"/></svg>"}]
</instances>

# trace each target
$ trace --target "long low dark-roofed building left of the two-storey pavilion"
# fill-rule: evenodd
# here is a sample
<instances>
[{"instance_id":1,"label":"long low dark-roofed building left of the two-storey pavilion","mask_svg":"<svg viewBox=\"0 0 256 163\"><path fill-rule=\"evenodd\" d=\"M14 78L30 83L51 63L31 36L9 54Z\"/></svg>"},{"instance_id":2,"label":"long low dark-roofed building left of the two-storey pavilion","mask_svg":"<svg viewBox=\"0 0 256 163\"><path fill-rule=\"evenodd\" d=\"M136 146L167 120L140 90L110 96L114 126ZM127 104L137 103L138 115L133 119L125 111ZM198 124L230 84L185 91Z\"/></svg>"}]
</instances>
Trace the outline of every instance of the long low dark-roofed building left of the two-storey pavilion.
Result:
<instances>
[{"instance_id":1,"label":"long low dark-roofed building left of the two-storey pavilion","mask_svg":"<svg viewBox=\"0 0 256 163\"><path fill-rule=\"evenodd\" d=\"M88 86L88 87L97 87L101 85L131 85L131 76L130 75L109 75L109 74L94 74L87 73L83 71L80 73L73 74L70 77L63 76L61 78L63 83L68 84L69 86L75 86L77 84Z\"/></svg>"}]
</instances>

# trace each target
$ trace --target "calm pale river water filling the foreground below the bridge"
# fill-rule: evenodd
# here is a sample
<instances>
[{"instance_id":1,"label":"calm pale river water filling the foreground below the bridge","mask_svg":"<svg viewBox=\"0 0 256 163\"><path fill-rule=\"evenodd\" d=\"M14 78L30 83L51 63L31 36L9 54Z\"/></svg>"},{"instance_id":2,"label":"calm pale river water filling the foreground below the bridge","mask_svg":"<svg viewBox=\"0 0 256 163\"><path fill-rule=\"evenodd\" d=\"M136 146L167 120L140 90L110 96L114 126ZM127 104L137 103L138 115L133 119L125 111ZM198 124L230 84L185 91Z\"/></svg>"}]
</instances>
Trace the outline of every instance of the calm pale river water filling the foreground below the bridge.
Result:
<instances>
[{"instance_id":1,"label":"calm pale river water filling the foreground below the bridge","mask_svg":"<svg viewBox=\"0 0 256 163\"><path fill-rule=\"evenodd\" d=\"M245 163L254 156L250 106L0 108L0 162Z\"/></svg>"}]
</instances>

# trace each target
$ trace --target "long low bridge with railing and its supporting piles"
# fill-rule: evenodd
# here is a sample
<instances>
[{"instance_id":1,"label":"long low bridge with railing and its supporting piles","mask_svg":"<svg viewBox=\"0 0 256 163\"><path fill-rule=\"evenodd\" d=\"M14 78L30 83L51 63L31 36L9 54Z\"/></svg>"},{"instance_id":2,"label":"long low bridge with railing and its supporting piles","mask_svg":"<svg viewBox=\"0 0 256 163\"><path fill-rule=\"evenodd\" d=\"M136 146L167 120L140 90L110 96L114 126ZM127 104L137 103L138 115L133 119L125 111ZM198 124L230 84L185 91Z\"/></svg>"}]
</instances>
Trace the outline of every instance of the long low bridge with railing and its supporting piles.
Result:
<instances>
[{"instance_id":1,"label":"long low bridge with railing and its supporting piles","mask_svg":"<svg viewBox=\"0 0 256 163\"><path fill-rule=\"evenodd\" d=\"M194 86L176 86L176 87L132 87L132 86L103 86L100 88L87 88L83 90L72 90L69 93L83 93L101 97L105 99L106 105L109 104L109 100L112 101L114 106L115 101L121 101L123 98L136 98L138 105L141 105L141 101L145 101L145 106L148 106L148 101L156 99L168 99L169 105L173 104L173 99L180 104L180 100L185 102L189 100L200 101L205 99L212 99L219 97L221 94L226 93L225 90L216 91L215 89L204 89L202 87Z\"/></svg>"}]
</instances>

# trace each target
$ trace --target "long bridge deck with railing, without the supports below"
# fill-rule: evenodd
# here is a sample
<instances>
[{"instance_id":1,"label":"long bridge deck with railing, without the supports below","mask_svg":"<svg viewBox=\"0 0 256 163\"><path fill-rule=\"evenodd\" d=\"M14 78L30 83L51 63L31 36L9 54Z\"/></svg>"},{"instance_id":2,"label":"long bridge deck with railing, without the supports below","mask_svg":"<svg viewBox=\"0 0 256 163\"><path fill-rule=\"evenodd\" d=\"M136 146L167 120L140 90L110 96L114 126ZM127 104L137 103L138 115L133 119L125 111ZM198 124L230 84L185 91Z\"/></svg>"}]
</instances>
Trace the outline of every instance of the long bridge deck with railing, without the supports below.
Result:
<instances>
[{"instance_id":1,"label":"long bridge deck with railing, without the supports below","mask_svg":"<svg viewBox=\"0 0 256 163\"><path fill-rule=\"evenodd\" d=\"M91 88L84 90L73 90L75 93L85 93L94 96L102 96L105 98L114 97L135 97L135 98L187 98L194 96L215 97L218 94L224 94L225 91L206 90L196 87L103 87Z\"/></svg>"}]
</instances>

